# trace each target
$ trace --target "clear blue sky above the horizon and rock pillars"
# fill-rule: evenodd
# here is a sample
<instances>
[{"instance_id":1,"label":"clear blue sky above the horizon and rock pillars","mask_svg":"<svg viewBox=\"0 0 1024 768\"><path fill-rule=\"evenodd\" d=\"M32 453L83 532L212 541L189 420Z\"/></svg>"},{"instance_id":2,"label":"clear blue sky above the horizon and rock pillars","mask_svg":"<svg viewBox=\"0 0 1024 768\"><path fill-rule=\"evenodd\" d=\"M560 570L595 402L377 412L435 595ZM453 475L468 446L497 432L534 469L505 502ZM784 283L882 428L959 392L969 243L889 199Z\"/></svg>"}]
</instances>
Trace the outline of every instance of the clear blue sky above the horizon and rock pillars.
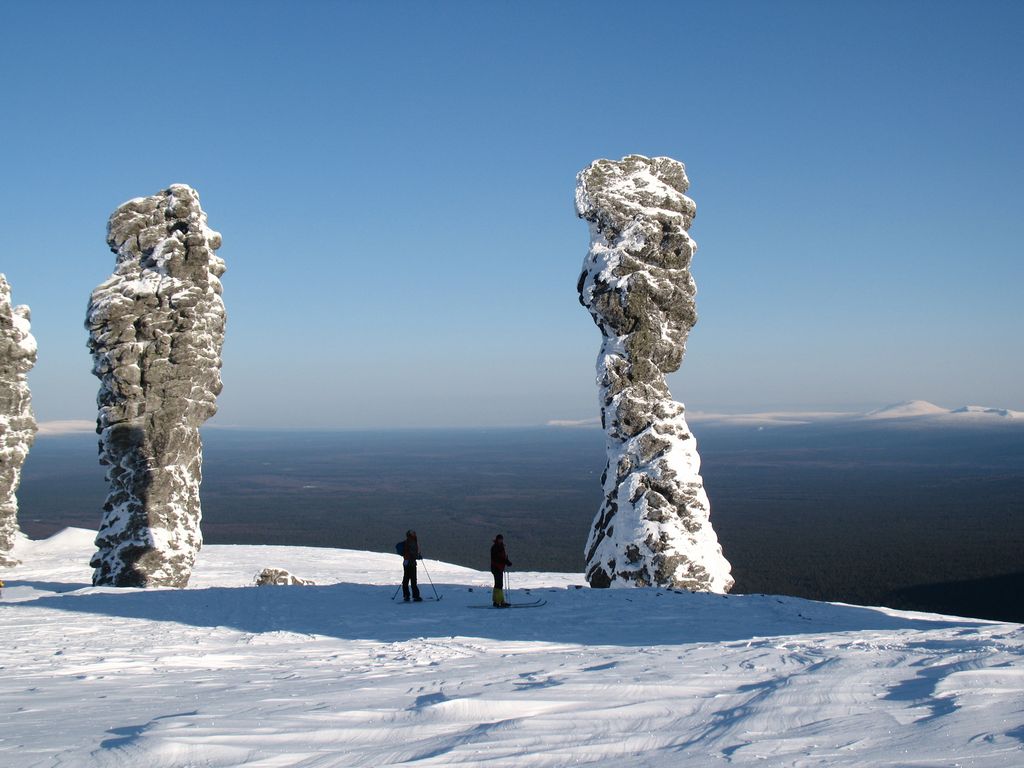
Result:
<instances>
[{"instance_id":1,"label":"clear blue sky above the horizon and rock pillars","mask_svg":"<svg viewBox=\"0 0 1024 768\"><path fill-rule=\"evenodd\" d=\"M694 411L1024 410L1024 5L0 4L0 271L40 420L95 415L111 212L222 232L214 423L597 414L574 177L687 166Z\"/></svg>"}]
</instances>

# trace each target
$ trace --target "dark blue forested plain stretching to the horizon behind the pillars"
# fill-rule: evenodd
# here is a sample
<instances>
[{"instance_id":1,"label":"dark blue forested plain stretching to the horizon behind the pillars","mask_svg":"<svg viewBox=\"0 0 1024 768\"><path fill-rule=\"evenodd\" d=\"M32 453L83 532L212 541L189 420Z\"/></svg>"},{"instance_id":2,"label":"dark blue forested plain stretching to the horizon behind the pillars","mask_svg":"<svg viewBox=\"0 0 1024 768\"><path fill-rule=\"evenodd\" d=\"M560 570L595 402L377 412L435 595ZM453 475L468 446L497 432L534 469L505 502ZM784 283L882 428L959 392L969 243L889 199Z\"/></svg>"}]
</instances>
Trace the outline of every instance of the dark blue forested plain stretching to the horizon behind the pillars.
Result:
<instances>
[{"instance_id":1,"label":"dark blue forested plain stretching to the horizon behind the pillars","mask_svg":"<svg viewBox=\"0 0 1024 768\"><path fill-rule=\"evenodd\" d=\"M1024 622L1024 426L691 426L734 592ZM485 569L502 532L516 569L582 572L601 497L596 429L204 440L208 544L391 552L415 527L428 557ZM98 524L95 457L90 435L37 440L27 534Z\"/></svg>"}]
</instances>

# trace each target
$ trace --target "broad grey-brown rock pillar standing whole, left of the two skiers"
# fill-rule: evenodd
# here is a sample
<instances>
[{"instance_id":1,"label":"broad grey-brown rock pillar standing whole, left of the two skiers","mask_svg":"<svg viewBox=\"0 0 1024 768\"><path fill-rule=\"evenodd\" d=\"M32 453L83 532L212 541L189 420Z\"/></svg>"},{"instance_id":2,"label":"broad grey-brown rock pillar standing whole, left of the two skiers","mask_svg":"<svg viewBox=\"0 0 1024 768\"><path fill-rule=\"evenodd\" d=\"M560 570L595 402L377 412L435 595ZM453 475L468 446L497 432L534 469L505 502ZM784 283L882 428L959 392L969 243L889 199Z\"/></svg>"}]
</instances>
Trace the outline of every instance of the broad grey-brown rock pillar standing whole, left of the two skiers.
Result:
<instances>
[{"instance_id":1,"label":"broad grey-brown rock pillar standing whole, left of the two skiers","mask_svg":"<svg viewBox=\"0 0 1024 768\"><path fill-rule=\"evenodd\" d=\"M217 412L225 316L220 234L206 221L196 190L174 184L108 222L117 266L86 315L111 484L95 585L183 587L202 546L199 427Z\"/></svg>"}]
</instances>

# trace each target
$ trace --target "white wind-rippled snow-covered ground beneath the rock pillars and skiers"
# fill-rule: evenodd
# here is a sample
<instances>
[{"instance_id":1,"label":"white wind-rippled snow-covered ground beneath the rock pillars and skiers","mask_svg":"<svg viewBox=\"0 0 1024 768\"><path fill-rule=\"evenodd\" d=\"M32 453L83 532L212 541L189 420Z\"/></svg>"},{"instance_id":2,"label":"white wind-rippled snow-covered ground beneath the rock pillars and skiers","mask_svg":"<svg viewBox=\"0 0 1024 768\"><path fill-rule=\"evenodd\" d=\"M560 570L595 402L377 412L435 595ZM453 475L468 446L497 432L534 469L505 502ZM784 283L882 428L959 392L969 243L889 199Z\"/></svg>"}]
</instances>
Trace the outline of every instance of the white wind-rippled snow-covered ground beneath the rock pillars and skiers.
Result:
<instances>
[{"instance_id":1,"label":"white wind-rippled snow-covered ground beneath the rock pillars and skiers","mask_svg":"<svg viewBox=\"0 0 1024 768\"><path fill-rule=\"evenodd\" d=\"M1021 625L564 573L474 610L489 574L429 559L403 604L396 556L295 547L94 589L93 536L0 569L0 765L1024 765Z\"/></svg>"}]
</instances>

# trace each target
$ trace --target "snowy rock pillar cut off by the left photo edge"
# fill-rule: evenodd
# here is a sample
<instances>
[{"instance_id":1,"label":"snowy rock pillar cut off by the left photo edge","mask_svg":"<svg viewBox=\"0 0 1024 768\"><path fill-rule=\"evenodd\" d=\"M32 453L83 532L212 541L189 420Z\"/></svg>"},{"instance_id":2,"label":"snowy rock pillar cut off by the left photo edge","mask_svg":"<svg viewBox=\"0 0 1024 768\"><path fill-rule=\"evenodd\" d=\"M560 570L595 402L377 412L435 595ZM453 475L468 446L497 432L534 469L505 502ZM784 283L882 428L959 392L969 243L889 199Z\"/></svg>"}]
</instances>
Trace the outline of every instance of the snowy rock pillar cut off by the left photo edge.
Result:
<instances>
[{"instance_id":1,"label":"snowy rock pillar cut off by the left photo edge","mask_svg":"<svg viewBox=\"0 0 1024 768\"><path fill-rule=\"evenodd\" d=\"M12 307L10 286L0 274L0 565L14 565L17 486L22 465L36 438L28 374L36 365L29 307Z\"/></svg>"}]
</instances>

